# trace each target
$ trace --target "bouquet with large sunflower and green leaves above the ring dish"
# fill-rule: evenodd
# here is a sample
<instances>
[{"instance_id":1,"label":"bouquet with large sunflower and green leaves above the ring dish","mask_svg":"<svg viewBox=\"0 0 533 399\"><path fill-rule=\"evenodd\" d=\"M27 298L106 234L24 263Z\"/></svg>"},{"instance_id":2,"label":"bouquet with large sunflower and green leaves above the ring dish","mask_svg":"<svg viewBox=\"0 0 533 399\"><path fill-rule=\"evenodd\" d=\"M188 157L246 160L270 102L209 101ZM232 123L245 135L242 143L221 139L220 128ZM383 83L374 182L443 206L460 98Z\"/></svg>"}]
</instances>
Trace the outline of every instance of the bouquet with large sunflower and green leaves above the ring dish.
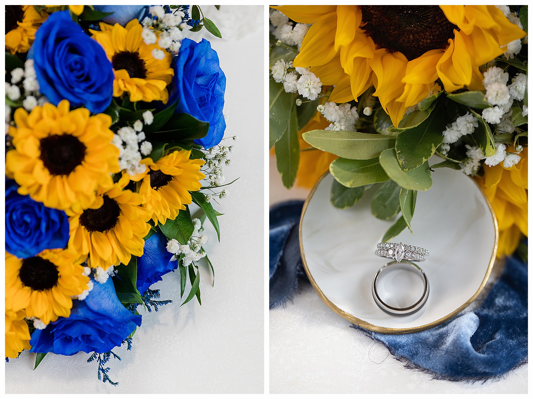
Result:
<instances>
[{"instance_id":1,"label":"bouquet with large sunflower and green leaves above the ring dish","mask_svg":"<svg viewBox=\"0 0 533 399\"><path fill-rule=\"evenodd\" d=\"M487 194L498 256L516 250L528 218L527 5L279 6L270 21L270 146L287 188L329 169L342 209L379 184L373 214L401 212L386 242L411 229L434 169L450 167Z\"/></svg>"}]
</instances>

